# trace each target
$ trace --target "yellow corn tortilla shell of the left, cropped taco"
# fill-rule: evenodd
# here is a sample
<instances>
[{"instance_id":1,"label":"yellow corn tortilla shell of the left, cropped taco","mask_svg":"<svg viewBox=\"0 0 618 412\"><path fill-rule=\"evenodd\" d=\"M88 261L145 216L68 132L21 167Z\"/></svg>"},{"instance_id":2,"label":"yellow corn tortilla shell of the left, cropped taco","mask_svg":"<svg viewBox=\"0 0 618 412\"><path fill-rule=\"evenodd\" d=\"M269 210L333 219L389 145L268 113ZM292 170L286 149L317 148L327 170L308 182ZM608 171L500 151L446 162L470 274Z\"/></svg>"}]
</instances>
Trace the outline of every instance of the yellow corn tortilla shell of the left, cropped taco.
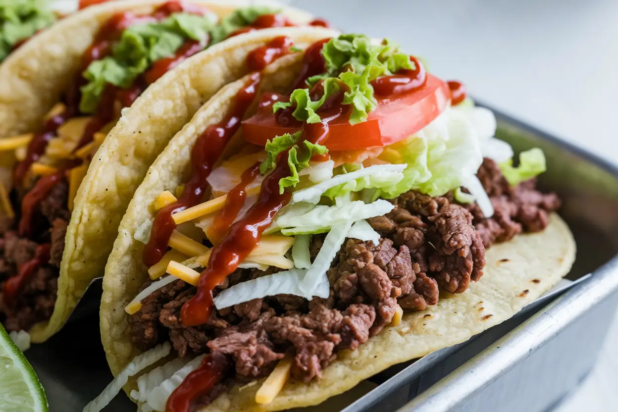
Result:
<instances>
[{"instance_id":1,"label":"yellow corn tortilla shell of the left, cropped taco","mask_svg":"<svg viewBox=\"0 0 618 412\"><path fill-rule=\"evenodd\" d=\"M127 10L144 14L163 2L122 0L86 9L12 54L0 66L0 127L5 128L0 133L11 135L40 124L77 75L82 54L112 14ZM221 16L248 4L196 3ZM283 11L299 23L310 19L295 9ZM103 274L121 217L146 170L201 104L226 83L247 74L247 54L276 36L287 35L303 48L334 34L324 28L298 27L235 36L187 59L124 109L78 189L65 238L54 313L48 322L30 330L33 342L44 342L61 329L91 280Z\"/></svg>"}]
</instances>

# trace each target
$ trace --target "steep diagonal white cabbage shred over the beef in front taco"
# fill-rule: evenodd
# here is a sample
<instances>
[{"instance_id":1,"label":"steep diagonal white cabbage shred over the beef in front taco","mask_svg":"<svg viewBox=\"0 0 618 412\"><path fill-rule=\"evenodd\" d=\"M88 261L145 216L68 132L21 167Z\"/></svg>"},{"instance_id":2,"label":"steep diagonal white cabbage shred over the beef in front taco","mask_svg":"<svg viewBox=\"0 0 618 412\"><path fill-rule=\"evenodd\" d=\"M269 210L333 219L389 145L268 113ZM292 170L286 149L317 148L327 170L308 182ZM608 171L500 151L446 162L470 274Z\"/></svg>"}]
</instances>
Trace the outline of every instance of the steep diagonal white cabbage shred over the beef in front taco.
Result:
<instances>
[{"instance_id":1,"label":"steep diagonal white cabbage shred over the beef in front taco","mask_svg":"<svg viewBox=\"0 0 618 412\"><path fill-rule=\"evenodd\" d=\"M335 258L335 255L339 252L339 249L341 249L341 245L344 244L345 237L347 237L352 227L352 222L353 221L347 221L333 226L331 231L328 232L328 235L324 238L324 243L320 251L315 259L313 259L313 264L307 269L307 274L305 274L300 284L297 285L301 293L304 295L314 295L315 291L318 290L320 284L323 283L324 280L328 282L326 271L331 267L332 259Z\"/></svg>"}]
</instances>

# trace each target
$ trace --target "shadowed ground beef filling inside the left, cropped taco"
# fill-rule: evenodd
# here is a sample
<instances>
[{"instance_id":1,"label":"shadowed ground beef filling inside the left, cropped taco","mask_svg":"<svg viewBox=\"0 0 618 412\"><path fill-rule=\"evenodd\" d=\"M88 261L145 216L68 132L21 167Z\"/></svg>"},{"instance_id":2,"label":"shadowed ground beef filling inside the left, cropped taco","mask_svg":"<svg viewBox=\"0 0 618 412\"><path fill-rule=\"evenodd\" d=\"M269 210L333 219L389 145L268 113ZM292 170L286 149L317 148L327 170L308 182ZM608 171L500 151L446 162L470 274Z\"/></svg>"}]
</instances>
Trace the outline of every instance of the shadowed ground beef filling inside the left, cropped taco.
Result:
<instances>
[{"instance_id":1,"label":"shadowed ground beef filling inside the left, cropped taco","mask_svg":"<svg viewBox=\"0 0 618 412\"><path fill-rule=\"evenodd\" d=\"M37 232L32 237L17 234L19 216L0 216L0 322L7 330L29 330L49 319L54 311L64 235L70 219L67 195L68 185L61 182L40 202L34 216ZM19 202L14 209L19 212ZM21 264L34 258L36 247L44 243L51 243L49 263L37 267L23 285L15 305L7 305L2 298L2 285L18 273Z\"/></svg>"}]
</instances>

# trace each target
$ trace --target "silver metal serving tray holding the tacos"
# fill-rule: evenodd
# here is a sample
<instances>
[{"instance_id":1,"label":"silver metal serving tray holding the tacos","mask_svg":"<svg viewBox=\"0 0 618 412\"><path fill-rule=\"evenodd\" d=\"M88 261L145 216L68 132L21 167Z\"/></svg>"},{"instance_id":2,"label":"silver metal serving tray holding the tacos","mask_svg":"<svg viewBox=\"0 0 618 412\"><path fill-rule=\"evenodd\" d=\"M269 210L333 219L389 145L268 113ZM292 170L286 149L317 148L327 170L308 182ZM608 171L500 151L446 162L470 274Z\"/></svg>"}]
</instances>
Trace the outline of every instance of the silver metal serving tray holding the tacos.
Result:
<instances>
[{"instance_id":1,"label":"silver metal serving tray holding the tacos","mask_svg":"<svg viewBox=\"0 0 618 412\"><path fill-rule=\"evenodd\" d=\"M548 172L541 187L562 197L561 215L577 241L577 259L567 276L572 282L467 342L393 366L303 412L543 411L590 371L618 305L618 169L546 133L496 116L498 137L516 151L540 147L546 154ZM570 290L564 293L565 288ZM88 293L96 301L100 282ZM81 410L112 379L98 317L74 317L61 333L26 353L51 411ZM121 394L106 410L135 411L135 405Z\"/></svg>"}]
</instances>

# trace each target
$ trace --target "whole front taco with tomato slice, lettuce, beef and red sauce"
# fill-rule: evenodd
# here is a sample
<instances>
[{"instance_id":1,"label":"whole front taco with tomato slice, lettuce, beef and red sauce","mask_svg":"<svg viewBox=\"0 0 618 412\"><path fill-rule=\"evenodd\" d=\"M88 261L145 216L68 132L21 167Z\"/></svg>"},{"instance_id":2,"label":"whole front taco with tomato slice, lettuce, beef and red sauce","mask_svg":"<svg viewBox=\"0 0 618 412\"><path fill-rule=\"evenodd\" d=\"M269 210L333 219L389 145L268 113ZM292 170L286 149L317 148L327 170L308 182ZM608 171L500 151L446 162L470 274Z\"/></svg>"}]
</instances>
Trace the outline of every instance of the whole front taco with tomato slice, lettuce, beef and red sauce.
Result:
<instances>
[{"instance_id":1,"label":"whole front taco with tomato slice, lettuce, beef and red sauce","mask_svg":"<svg viewBox=\"0 0 618 412\"><path fill-rule=\"evenodd\" d=\"M122 219L101 301L116 379L86 410L122 385L148 411L316 405L513 316L575 244L536 188L543 152L514 166L495 132L461 83L362 35L219 90Z\"/></svg>"}]
</instances>

